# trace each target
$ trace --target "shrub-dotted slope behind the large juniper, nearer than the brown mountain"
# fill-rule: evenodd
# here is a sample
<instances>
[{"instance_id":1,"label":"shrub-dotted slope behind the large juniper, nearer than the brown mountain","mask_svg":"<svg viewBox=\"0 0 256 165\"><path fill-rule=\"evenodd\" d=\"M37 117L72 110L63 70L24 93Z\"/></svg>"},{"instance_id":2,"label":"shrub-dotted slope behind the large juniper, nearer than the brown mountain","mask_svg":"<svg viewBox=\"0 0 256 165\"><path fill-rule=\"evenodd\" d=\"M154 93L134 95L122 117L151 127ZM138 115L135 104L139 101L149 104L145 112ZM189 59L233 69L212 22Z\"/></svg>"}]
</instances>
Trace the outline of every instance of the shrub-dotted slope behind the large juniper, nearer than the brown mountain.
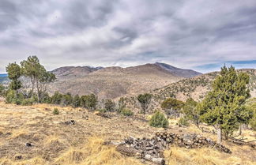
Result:
<instances>
[{"instance_id":1,"label":"shrub-dotted slope behind the large juniper, nearer than the brown mountain","mask_svg":"<svg viewBox=\"0 0 256 165\"><path fill-rule=\"evenodd\" d=\"M256 96L256 69L239 69L239 72L246 72L250 75L250 95ZM187 78L179 82L168 84L164 88L157 88L152 91L155 100L162 101L168 97L176 97L185 101L192 97L201 100L211 89L211 83L219 72L206 73L197 77Z\"/></svg>"}]
</instances>

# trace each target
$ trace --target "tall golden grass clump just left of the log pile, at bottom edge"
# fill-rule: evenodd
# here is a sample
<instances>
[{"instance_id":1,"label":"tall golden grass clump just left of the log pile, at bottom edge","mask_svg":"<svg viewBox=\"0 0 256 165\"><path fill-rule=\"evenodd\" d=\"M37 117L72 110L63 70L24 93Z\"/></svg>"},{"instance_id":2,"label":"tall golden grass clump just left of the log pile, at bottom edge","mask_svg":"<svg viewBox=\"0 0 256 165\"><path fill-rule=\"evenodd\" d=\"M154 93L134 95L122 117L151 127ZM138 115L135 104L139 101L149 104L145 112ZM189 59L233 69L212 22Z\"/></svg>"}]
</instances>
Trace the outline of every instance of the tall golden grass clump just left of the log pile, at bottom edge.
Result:
<instances>
[{"instance_id":1,"label":"tall golden grass clump just left of the log pile, at bottom edge","mask_svg":"<svg viewBox=\"0 0 256 165\"><path fill-rule=\"evenodd\" d=\"M63 165L141 164L137 159L122 156L114 147L104 145L104 139L98 137L90 137L81 148L69 148L55 160L55 163Z\"/></svg>"}]
</instances>

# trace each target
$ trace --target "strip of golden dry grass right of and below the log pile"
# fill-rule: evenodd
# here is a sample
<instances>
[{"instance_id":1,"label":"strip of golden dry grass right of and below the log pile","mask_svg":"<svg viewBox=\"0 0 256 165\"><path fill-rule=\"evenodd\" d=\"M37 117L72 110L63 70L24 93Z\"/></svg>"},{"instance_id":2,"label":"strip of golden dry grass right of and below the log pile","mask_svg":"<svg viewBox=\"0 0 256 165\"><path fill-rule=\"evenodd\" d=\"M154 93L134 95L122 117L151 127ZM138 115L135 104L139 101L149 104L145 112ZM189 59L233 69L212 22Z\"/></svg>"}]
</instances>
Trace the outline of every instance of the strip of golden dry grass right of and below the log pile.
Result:
<instances>
[{"instance_id":1,"label":"strip of golden dry grass right of and below the log pile","mask_svg":"<svg viewBox=\"0 0 256 165\"><path fill-rule=\"evenodd\" d=\"M218 152L212 148L175 148L164 152L167 165L253 165L254 162Z\"/></svg>"}]
</instances>

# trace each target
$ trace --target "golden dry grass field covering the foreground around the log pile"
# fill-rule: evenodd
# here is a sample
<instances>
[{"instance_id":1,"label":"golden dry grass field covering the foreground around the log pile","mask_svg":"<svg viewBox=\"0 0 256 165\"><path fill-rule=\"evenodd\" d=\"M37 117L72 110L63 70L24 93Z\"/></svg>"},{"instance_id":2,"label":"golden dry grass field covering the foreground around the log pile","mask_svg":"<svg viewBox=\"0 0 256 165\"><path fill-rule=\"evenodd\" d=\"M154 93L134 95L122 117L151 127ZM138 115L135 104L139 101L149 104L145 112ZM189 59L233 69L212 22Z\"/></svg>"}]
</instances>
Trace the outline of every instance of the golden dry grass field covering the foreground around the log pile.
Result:
<instances>
[{"instance_id":1,"label":"golden dry grass field covering the foreground around the log pile","mask_svg":"<svg viewBox=\"0 0 256 165\"><path fill-rule=\"evenodd\" d=\"M57 107L60 114L52 114L55 106L37 104L21 107L0 102L0 164L1 165L134 165L152 164L141 159L122 156L115 146L104 141L123 138L152 137L157 131L141 120L143 116L122 117L112 114L103 118L82 108ZM75 125L64 122L74 120ZM179 128L170 120L166 130L174 133L200 133L215 139L212 133L201 133L195 127ZM255 140L256 133L243 133ZM27 147L26 143L32 144ZM256 164L256 151L249 146L238 146L224 141L232 154L213 148L186 149L171 146L164 152L167 164Z\"/></svg>"}]
</instances>

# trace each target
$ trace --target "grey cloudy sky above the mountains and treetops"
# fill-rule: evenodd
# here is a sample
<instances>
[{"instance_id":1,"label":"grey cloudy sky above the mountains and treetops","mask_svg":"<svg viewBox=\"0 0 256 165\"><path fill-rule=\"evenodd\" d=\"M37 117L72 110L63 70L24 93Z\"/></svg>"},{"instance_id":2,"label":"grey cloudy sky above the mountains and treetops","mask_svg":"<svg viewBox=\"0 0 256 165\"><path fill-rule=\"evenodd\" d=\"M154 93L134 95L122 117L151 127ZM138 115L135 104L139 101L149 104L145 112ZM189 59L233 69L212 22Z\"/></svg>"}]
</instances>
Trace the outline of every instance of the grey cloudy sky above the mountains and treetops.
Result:
<instances>
[{"instance_id":1,"label":"grey cloudy sky above the mountains and treetops","mask_svg":"<svg viewBox=\"0 0 256 165\"><path fill-rule=\"evenodd\" d=\"M165 62L256 68L255 0L0 0L0 73L37 55L59 66Z\"/></svg>"}]
</instances>

